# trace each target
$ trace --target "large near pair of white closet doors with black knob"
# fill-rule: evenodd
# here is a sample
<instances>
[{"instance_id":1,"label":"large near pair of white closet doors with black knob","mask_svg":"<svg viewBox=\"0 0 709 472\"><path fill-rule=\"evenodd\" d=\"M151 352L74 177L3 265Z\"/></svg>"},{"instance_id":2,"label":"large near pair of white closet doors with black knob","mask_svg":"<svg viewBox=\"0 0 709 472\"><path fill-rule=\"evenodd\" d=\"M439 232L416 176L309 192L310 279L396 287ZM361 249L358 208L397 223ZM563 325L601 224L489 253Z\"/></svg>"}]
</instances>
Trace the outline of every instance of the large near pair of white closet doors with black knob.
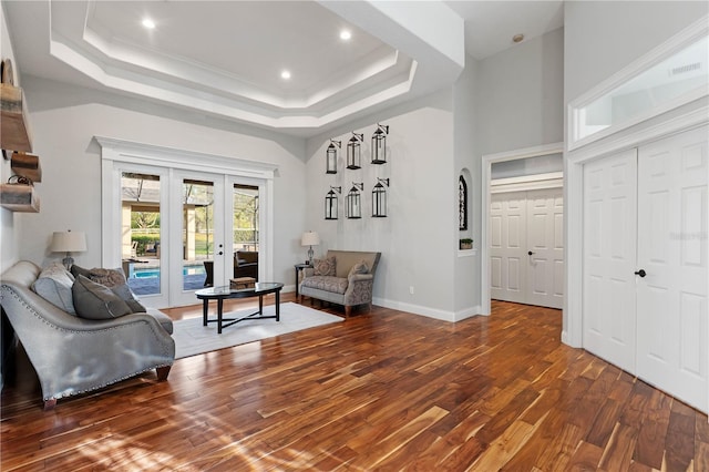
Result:
<instances>
[{"instance_id":1,"label":"large near pair of white closet doors with black knob","mask_svg":"<svg viewBox=\"0 0 709 472\"><path fill-rule=\"evenodd\" d=\"M708 135L584 167L584 348L705 412Z\"/></svg>"}]
</instances>

